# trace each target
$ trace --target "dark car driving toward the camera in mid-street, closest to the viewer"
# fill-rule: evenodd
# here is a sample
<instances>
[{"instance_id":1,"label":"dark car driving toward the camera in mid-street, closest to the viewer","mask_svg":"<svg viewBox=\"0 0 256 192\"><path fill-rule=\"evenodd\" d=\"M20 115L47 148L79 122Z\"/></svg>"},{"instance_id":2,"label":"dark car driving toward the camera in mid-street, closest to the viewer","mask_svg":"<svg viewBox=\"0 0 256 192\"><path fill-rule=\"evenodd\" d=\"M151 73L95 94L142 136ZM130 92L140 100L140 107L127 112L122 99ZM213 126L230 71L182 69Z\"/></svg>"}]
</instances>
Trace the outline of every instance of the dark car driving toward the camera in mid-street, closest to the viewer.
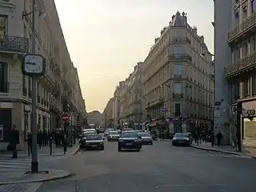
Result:
<instances>
[{"instance_id":1,"label":"dark car driving toward the camera in mid-street, closest to the viewer","mask_svg":"<svg viewBox=\"0 0 256 192\"><path fill-rule=\"evenodd\" d=\"M134 130L122 131L121 137L118 139L118 151L122 149L142 149L142 140L138 133Z\"/></svg>"}]
</instances>

